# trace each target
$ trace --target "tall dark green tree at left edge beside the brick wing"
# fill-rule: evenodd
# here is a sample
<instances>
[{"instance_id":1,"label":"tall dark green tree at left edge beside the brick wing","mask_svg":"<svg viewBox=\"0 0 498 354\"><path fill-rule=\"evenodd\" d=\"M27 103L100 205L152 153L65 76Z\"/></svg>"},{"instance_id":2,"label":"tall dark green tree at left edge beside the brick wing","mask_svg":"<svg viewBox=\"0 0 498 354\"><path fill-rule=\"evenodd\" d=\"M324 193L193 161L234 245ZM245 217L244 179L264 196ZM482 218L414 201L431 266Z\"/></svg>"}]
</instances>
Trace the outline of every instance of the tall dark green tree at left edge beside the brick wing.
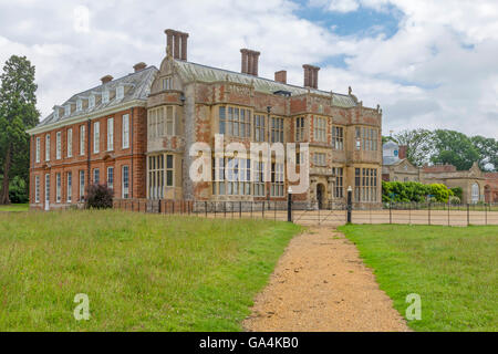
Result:
<instances>
[{"instance_id":1,"label":"tall dark green tree at left edge beside the brick wing","mask_svg":"<svg viewBox=\"0 0 498 354\"><path fill-rule=\"evenodd\" d=\"M34 71L25 56L12 55L0 75L0 168L3 175L0 204L10 204L9 183L13 173L28 176L30 138L25 131L35 126L40 116L35 107Z\"/></svg>"}]
</instances>

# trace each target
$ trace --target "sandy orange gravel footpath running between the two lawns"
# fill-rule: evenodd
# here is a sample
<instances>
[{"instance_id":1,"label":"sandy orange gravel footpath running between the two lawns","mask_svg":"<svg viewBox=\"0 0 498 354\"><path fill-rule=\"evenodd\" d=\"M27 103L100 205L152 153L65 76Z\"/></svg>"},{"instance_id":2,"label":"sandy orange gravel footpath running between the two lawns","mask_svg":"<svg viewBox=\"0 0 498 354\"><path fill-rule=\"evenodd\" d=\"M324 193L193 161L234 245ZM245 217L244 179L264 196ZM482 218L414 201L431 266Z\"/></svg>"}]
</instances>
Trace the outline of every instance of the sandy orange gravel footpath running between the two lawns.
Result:
<instances>
[{"instance_id":1,"label":"sandy orange gravel footpath running between the two lawns","mask_svg":"<svg viewBox=\"0 0 498 354\"><path fill-rule=\"evenodd\" d=\"M243 327L262 332L408 331L360 260L356 247L331 228L313 228L290 242Z\"/></svg>"}]
</instances>

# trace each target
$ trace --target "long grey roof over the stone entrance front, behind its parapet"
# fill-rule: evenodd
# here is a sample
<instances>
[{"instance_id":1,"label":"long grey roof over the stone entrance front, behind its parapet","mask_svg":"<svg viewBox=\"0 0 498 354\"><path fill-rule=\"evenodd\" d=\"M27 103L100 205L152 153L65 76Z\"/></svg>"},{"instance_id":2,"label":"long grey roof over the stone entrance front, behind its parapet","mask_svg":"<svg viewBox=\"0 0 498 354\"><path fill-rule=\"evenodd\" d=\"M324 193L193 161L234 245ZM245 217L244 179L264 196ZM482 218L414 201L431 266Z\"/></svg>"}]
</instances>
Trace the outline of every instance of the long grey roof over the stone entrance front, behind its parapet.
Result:
<instances>
[{"instance_id":1,"label":"long grey roof over the stone entrance front, behind its parapet","mask_svg":"<svg viewBox=\"0 0 498 354\"><path fill-rule=\"evenodd\" d=\"M179 75L186 81L186 82L205 82L205 83L212 83L212 82L235 82L239 84L245 85L253 85L255 90L258 92L267 93L267 94L273 94L278 91L287 91L290 92L291 95L303 95L308 92L330 97L331 93L326 91L321 90L314 90L314 88L308 88L308 87L301 87L301 86L294 86L289 84L283 84L280 82L276 82L269 79L258 77L253 75L242 74L242 73L236 73L232 71L224 70L224 69L217 69L211 66L206 66L201 64L190 63L186 61L175 60L175 66L177 69L177 72ZM350 96L350 95L343 95L343 94L332 94L332 104L341 107L354 107L356 106L356 101Z\"/></svg>"}]
</instances>

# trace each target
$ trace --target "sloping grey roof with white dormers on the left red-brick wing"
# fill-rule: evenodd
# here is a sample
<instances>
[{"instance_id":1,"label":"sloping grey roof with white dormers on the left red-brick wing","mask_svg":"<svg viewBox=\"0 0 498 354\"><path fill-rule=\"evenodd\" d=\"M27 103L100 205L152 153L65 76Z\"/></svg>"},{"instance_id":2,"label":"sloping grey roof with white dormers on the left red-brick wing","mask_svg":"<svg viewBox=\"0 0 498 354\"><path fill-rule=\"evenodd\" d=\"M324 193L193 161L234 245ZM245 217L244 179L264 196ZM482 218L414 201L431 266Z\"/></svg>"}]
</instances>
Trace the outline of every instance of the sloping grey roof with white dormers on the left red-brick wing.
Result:
<instances>
[{"instance_id":1,"label":"sloping grey roof with white dormers on the left red-brick wing","mask_svg":"<svg viewBox=\"0 0 498 354\"><path fill-rule=\"evenodd\" d=\"M124 85L126 87L129 87L129 90L127 90L127 92L125 93L123 98L116 100L116 96L113 100L110 100L110 102L107 103L100 103L97 105L95 105L92 108L84 108L82 111L77 111L77 112L72 112L71 115L65 116L63 114L61 114L59 116L59 118L55 118L53 115L53 112L45 117L39 125L37 125L37 127L43 127L46 125L52 125L55 123L60 123L62 121L65 119L70 119L72 117L75 116L80 116L80 115L85 115L85 114L93 114L93 113L97 113L98 111L103 111L106 108L112 108L112 107L117 107L124 103L131 102L131 101L135 101L135 100L139 100L139 101L146 101L148 94L151 93L151 85L154 81L155 74L158 72L157 67L155 66L149 66L147 69L144 69L139 72L136 73L132 73L128 74L126 76L123 76L121 79L116 79L113 80L108 83L105 83L103 85L80 92L75 95L73 95L71 98L69 98L68 101L65 101L62 105L60 106L65 106L70 103L75 104L79 97L89 97L92 94L102 94L104 91L114 91L116 90L116 87L118 87L120 85Z\"/></svg>"}]
</instances>

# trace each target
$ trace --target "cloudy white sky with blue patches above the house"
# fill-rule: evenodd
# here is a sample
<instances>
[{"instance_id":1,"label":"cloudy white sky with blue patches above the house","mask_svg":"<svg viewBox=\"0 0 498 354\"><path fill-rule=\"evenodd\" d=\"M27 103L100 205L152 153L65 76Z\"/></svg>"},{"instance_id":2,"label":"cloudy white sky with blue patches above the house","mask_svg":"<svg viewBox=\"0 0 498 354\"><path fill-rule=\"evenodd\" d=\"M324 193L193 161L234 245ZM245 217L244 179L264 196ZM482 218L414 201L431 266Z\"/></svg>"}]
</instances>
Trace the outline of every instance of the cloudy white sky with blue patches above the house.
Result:
<instances>
[{"instance_id":1,"label":"cloudy white sky with blue patches above the house","mask_svg":"<svg viewBox=\"0 0 498 354\"><path fill-rule=\"evenodd\" d=\"M0 62L32 61L44 117L105 74L158 66L167 28L190 34L191 62L239 71L249 48L260 76L299 85L319 65L319 88L381 105L384 134L498 138L497 0L0 0Z\"/></svg>"}]
</instances>

